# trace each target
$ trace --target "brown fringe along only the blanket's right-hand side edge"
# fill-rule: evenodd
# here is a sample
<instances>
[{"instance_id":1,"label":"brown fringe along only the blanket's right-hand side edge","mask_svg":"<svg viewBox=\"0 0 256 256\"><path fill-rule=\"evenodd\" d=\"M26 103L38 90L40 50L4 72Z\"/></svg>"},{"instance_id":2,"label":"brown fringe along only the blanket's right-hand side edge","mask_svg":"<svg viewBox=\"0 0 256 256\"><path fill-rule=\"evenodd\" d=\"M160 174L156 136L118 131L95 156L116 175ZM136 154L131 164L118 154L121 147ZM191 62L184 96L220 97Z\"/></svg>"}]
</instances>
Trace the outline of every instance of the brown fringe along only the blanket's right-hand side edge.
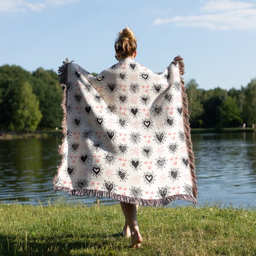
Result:
<instances>
[{"instance_id":1,"label":"brown fringe along only the blanket's right-hand side edge","mask_svg":"<svg viewBox=\"0 0 256 256\"><path fill-rule=\"evenodd\" d=\"M184 62L183 58L181 58L180 55L176 56L174 58L175 61L178 62L179 70L180 70L180 81L181 81L181 87L182 87L182 112L183 112L183 125L184 125L184 131L186 136L186 148L188 151L189 156L189 166L190 166L190 173L192 176L192 193L195 198L198 197L198 187L197 187L197 181L196 181L196 175L195 175L195 156L193 152L193 144L191 141L191 134L190 134L190 123L189 123L189 103L188 103L188 97L186 94L186 87L185 82L182 78L182 76L185 73L184 69ZM198 202L197 202L198 204Z\"/></svg>"}]
</instances>

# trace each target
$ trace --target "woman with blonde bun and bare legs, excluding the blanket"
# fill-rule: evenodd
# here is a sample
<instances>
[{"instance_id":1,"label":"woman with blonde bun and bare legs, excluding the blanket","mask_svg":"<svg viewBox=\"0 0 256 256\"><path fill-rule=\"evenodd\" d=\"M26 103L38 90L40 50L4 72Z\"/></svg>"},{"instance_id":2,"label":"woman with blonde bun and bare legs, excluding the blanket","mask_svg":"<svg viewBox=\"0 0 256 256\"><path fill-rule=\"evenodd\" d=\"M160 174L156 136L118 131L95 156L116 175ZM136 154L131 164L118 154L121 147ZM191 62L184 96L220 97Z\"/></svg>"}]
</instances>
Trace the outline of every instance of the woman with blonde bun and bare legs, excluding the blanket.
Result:
<instances>
[{"instance_id":1,"label":"woman with blonde bun and bare legs, excluding the blanket","mask_svg":"<svg viewBox=\"0 0 256 256\"><path fill-rule=\"evenodd\" d=\"M134 59L137 55L137 39L134 32L126 27L119 32L119 37L115 42L116 59L121 61L124 58ZM131 237L130 248L140 247L143 241L140 235L137 222L138 204L128 204L120 201L122 211L125 215L125 226L121 232L122 236Z\"/></svg>"}]
</instances>

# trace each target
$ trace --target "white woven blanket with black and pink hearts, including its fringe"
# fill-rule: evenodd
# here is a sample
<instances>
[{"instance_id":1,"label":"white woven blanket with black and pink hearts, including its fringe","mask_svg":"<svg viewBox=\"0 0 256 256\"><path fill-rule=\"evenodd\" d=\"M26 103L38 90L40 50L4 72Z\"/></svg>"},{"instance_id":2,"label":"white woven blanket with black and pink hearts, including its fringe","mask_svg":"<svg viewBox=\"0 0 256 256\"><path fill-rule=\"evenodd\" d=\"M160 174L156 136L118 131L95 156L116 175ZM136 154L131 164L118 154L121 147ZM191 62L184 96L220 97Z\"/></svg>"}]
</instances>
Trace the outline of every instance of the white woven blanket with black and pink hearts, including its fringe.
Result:
<instances>
[{"instance_id":1,"label":"white woven blanket with black and pink hearts, including its fringe","mask_svg":"<svg viewBox=\"0 0 256 256\"><path fill-rule=\"evenodd\" d=\"M58 73L64 135L55 192L143 206L198 204L180 55L160 73L131 58L96 77L66 59Z\"/></svg>"}]
</instances>

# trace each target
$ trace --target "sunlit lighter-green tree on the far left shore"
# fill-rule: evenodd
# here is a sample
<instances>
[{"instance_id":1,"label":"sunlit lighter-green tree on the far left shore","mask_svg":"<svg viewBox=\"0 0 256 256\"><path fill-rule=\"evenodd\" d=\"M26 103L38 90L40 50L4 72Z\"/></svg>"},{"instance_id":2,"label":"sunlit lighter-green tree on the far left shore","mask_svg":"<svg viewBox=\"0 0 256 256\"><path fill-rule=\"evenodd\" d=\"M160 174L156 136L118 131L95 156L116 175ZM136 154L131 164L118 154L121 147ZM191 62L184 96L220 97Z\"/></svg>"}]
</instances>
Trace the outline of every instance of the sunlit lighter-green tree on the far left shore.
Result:
<instances>
[{"instance_id":1,"label":"sunlit lighter-green tree on the far left shore","mask_svg":"<svg viewBox=\"0 0 256 256\"><path fill-rule=\"evenodd\" d=\"M20 85L18 101L15 102L14 127L18 130L35 131L42 119L39 101L32 93L32 85L25 81Z\"/></svg>"}]
</instances>

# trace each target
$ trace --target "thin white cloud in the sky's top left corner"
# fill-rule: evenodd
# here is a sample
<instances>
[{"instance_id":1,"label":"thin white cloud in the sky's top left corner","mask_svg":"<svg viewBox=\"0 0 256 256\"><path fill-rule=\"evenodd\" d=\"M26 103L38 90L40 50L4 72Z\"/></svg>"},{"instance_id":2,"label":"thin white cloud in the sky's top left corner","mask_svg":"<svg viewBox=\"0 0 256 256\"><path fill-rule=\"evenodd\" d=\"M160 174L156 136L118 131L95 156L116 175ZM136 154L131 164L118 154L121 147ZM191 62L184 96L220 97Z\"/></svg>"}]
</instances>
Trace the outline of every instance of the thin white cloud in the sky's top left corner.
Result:
<instances>
[{"instance_id":1,"label":"thin white cloud in the sky's top left corner","mask_svg":"<svg viewBox=\"0 0 256 256\"><path fill-rule=\"evenodd\" d=\"M76 0L43 0L31 3L28 0L0 0L0 12L41 12L47 6L72 3Z\"/></svg>"}]
</instances>

